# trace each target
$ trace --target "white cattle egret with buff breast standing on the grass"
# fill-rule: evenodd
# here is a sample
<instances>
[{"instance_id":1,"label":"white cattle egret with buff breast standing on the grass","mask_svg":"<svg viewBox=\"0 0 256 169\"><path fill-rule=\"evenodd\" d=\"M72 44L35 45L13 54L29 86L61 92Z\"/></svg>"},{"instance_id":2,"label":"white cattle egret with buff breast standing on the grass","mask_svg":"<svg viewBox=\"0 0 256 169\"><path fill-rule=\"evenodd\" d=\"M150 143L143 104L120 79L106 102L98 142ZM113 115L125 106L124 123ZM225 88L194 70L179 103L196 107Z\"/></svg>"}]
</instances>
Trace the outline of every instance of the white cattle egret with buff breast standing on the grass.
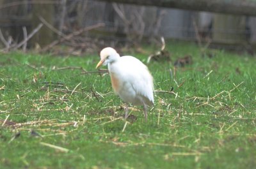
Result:
<instances>
[{"instance_id":1,"label":"white cattle egret with buff breast standing on the grass","mask_svg":"<svg viewBox=\"0 0 256 169\"><path fill-rule=\"evenodd\" d=\"M111 47L101 50L100 61L96 69L102 64L108 65L115 94L118 94L125 103L143 105L145 121L147 121L147 107L154 105L153 77L147 66L131 55L120 57ZM128 111L126 105L125 119L128 116Z\"/></svg>"}]
</instances>

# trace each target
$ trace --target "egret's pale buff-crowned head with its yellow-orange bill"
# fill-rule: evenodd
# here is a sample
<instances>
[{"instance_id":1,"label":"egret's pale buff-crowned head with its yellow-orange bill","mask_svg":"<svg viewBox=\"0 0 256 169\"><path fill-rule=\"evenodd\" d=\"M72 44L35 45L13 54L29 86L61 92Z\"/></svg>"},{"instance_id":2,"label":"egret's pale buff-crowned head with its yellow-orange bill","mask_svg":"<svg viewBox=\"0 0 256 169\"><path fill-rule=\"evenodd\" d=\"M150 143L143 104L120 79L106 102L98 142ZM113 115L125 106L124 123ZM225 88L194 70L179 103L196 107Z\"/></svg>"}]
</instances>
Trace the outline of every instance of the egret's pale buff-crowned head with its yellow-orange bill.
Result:
<instances>
[{"instance_id":1,"label":"egret's pale buff-crowned head with its yellow-orange bill","mask_svg":"<svg viewBox=\"0 0 256 169\"><path fill-rule=\"evenodd\" d=\"M111 47L106 47L101 50L100 52L100 61L96 66L96 69L99 68L102 64L103 65L108 65L108 63L116 61L120 55L116 52L115 49Z\"/></svg>"}]
</instances>

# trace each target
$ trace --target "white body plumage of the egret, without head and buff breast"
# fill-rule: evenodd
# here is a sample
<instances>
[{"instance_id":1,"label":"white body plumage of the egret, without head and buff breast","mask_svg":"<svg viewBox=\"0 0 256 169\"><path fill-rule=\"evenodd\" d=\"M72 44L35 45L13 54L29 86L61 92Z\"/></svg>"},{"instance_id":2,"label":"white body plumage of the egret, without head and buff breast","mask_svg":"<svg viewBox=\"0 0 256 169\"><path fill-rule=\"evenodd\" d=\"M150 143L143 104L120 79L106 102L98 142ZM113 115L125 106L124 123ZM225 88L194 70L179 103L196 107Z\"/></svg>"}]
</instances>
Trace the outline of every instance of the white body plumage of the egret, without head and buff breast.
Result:
<instances>
[{"instance_id":1,"label":"white body plumage of the egret, without head and buff breast","mask_svg":"<svg viewBox=\"0 0 256 169\"><path fill-rule=\"evenodd\" d=\"M108 64L109 73L115 74L120 83L116 92L126 103L154 105L153 79L147 66L135 57L125 55Z\"/></svg>"}]
</instances>

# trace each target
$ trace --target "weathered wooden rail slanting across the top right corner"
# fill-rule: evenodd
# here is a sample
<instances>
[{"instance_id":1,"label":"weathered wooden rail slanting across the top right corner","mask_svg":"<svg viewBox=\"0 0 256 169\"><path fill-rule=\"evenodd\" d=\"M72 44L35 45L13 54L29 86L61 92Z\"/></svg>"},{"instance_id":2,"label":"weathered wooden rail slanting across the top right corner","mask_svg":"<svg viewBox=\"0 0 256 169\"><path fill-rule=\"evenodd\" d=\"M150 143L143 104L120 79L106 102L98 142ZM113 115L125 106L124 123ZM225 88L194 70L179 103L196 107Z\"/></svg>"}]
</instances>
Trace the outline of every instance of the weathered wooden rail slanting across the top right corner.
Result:
<instances>
[{"instance_id":1,"label":"weathered wooden rail slanting across the top right corner","mask_svg":"<svg viewBox=\"0 0 256 169\"><path fill-rule=\"evenodd\" d=\"M179 8L183 10L211 11L234 15L256 16L256 2L243 0L97 0L112 3L126 3L145 6L159 6L165 8Z\"/></svg>"}]
</instances>

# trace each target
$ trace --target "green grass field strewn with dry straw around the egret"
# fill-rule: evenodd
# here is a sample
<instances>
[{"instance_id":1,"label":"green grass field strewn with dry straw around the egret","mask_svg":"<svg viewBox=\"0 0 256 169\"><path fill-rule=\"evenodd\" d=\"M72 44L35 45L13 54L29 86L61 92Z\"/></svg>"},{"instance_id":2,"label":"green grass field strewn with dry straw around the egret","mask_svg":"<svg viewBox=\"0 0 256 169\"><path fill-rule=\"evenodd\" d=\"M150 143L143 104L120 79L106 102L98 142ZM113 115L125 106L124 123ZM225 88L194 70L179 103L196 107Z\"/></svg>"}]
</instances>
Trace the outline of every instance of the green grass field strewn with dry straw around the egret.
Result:
<instances>
[{"instance_id":1,"label":"green grass field strewn with dry straw around the egret","mask_svg":"<svg viewBox=\"0 0 256 169\"><path fill-rule=\"evenodd\" d=\"M97 54L1 54L0 168L256 168L256 58L167 48L193 64L175 75L169 62L148 64L166 91L155 92L148 122L142 107L122 119L108 74L71 69L95 71Z\"/></svg>"}]
</instances>

